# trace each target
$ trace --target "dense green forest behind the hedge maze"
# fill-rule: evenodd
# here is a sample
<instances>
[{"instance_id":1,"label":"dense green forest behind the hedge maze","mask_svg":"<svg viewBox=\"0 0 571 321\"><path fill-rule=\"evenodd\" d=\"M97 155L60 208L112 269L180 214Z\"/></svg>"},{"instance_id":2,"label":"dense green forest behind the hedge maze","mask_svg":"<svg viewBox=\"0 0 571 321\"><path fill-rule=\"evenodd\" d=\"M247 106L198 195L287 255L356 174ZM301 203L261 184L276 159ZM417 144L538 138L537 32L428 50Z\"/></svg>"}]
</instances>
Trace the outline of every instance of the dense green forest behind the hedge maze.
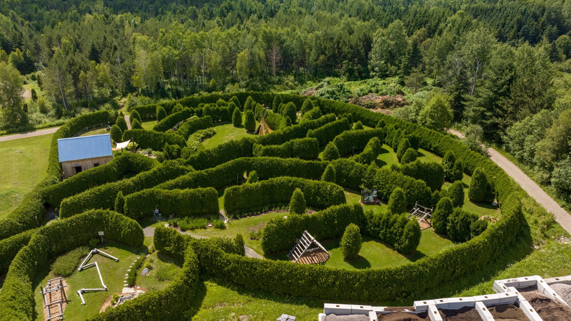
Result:
<instances>
[{"instance_id":1,"label":"dense green forest behind the hedge maze","mask_svg":"<svg viewBox=\"0 0 571 321\"><path fill-rule=\"evenodd\" d=\"M372 94L569 202L570 31L571 0L5 0L0 133L217 91Z\"/></svg>"}]
</instances>

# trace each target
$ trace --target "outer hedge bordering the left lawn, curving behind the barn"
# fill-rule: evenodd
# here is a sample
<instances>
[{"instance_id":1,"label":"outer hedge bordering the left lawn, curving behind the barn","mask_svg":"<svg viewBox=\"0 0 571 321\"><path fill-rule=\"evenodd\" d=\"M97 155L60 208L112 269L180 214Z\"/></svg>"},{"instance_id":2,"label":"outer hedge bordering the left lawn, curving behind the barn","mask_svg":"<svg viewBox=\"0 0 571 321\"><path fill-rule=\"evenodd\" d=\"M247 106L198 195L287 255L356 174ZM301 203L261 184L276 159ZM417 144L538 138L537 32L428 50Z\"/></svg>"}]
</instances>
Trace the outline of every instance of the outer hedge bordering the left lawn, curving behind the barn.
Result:
<instances>
[{"instance_id":1,"label":"outer hedge bordering the left lawn, curving behind the barn","mask_svg":"<svg viewBox=\"0 0 571 321\"><path fill-rule=\"evenodd\" d=\"M59 164L58 139L72 137L87 126L108 123L110 119L113 120L108 111L96 111L95 113L83 114L72 118L59 127L51 139L46 178L24 196L19 206L7 215L6 219L0 220L0 239L37 227L38 223L34 216L42 218L45 214L46 209L44 207L42 189L59 182L62 171Z\"/></svg>"}]
</instances>

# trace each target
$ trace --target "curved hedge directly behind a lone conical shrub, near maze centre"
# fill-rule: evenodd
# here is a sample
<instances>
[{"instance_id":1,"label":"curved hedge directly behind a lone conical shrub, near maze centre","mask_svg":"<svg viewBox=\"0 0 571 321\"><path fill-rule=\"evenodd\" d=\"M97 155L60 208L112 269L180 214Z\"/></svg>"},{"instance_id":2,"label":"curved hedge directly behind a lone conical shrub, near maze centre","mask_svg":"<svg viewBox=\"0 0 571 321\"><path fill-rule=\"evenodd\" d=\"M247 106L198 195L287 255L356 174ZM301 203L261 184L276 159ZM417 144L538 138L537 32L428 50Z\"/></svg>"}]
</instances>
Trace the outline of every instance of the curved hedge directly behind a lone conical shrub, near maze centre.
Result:
<instances>
[{"instance_id":1,"label":"curved hedge directly behind a lone conical shrub, near maze centre","mask_svg":"<svg viewBox=\"0 0 571 321\"><path fill-rule=\"evenodd\" d=\"M256 171L258 172L258 171ZM343 188L337 184L297 177L278 177L253 184L231 186L224 190L224 208L234 212L239 208L287 203L293 190L301 188L308 206L327 208L346 202Z\"/></svg>"}]
</instances>

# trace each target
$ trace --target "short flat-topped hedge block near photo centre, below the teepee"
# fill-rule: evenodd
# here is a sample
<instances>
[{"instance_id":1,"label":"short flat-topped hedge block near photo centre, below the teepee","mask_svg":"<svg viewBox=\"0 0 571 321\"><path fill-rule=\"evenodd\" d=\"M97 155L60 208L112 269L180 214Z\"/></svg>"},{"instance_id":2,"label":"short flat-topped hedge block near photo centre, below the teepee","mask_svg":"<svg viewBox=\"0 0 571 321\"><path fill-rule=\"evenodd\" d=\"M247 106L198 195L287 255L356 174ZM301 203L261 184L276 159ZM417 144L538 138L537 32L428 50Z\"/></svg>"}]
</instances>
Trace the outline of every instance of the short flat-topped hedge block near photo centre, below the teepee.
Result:
<instances>
[{"instance_id":1,"label":"short flat-topped hedge block near photo centre, below the teepee","mask_svg":"<svg viewBox=\"0 0 571 321\"><path fill-rule=\"evenodd\" d=\"M319 143L315 138L292 139L282 145L259 145L254 144L252 154L255 157L279 157L312 159L319 157Z\"/></svg>"}]
</instances>

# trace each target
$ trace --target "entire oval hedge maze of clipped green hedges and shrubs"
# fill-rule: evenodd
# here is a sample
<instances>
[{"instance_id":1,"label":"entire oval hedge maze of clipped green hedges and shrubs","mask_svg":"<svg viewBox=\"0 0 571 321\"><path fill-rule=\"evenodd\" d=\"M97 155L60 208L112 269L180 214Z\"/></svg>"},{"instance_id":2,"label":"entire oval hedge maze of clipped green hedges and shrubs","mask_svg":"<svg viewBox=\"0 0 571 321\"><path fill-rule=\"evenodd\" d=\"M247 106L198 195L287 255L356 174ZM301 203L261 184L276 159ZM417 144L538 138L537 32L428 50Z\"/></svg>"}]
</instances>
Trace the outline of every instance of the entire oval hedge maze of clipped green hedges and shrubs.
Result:
<instances>
[{"instance_id":1,"label":"entire oval hedge maze of clipped green hedges and shrubs","mask_svg":"<svg viewBox=\"0 0 571 321\"><path fill-rule=\"evenodd\" d=\"M270 107L273 111L265 119L274 131L211 149L188 149L187 139L193 133L231 121L236 107L244 111L242 106L254 111L258 120L264 107ZM297 122L289 114L302 107L304 115ZM435 287L478 272L525 227L520 203L524 192L489 159L452 137L359 106L289 94L240 92L193 96L132 110L142 118L161 119L153 130L125 130L124 140L134 138L139 147L158 151L176 145L180 157L159 163L145 155L122 153L104 166L59 182L57 139L71 137L93 123L114 123L116 115L98 111L63 125L54 135L47 178L0 224L0 273L7 272L0 292L0 320L33 319L33 306L38 303L33 302L31 280L39 267L51 257L87 245L98 231L104 231L106 238L141 246L143 231L136 220L151 216L155 207L178 217L214 214L231 218L236 211L287 204L300 188L305 203L316 212L266 222L260 241L264 253L288 250L304 230L317 240L340 238L351 223L362 235L393 244L404 254L413 252L420 242L420 227L404 212L415 202L435 207L433 226L463 243L402 266L345 270L248 258L243 241L194 239L172 228L157 227L155 248L182 260L182 273L164 290L142 295L90 320L190 317L200 306L199 275L252 290L320 300L411 303ZM364 129L352 129L356 122ZM395 153L400 151L403 159L408 150L419 148L447 158L443 164L416 160L379 168L375 159L383 144ZM327 160L318 158L324 149ZM458 168L468 175L476 172L473 190L464 191L461 184L448 192L441 190L444 175L458 174L454 173ZM258 181L244 182L254 171ZM120 179L126 172L136 175ZM361 204L347 202L344 188L376 188L378 197L394 206L386 212L365 211ZM501 218L495 224L478 223L476 214L454 208L460 193L478 200L495 198ZM118 194L124 199L115 202ZM45 204L58 208L61 219L37 227L35 215L44 215Z\"/></svg>"}]
</instances>

